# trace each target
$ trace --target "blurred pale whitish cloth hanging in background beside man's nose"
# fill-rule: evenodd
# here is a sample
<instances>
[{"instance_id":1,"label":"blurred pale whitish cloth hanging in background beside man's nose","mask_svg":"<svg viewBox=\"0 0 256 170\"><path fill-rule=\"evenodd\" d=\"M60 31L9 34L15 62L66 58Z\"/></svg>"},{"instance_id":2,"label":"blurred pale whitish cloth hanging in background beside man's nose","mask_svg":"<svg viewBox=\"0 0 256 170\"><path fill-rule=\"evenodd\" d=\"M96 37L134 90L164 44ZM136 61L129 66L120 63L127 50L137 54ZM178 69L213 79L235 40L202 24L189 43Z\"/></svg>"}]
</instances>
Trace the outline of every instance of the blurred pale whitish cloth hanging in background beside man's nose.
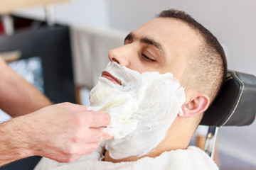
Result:
<instances>
[{"instance_id":1,"label":"blurred pale whitish cloth hanging in background beside man's nose","mask_svg":"<svg viewBox=\"0 0 256 170\"><path fill-rule=\"evenodd\" d=\"M109 62L109 50L122 46L127 32L72 26L70 35L75 85L91 89Z\"/></svg>"}]
</instances>

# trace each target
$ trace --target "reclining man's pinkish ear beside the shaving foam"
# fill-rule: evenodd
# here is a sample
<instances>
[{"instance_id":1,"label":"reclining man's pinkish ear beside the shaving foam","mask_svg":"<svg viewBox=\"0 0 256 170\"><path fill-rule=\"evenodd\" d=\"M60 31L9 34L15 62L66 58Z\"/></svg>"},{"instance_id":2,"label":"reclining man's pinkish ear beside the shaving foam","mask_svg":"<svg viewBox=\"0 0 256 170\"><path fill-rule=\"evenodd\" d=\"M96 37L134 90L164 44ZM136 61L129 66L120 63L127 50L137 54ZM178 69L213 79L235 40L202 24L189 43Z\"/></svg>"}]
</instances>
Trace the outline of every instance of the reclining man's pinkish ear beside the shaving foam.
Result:
<instances>
[{"instance_id":1,"label":"reclining man's pinkish ear beside the shaving foam","mask_svg":"<svg viewBox=\"0 0 256 170\"><path fill-rule=\"evenodd\" d=\"M183 111L183 115L181 117L189 118L198 113L203 113L206 111L209 104L210 98L206 94L198 92L196 96L191 99L191 101L188 101L188 103L185 103L183 106L181 106Z\"/></svg>"}]
</instances>

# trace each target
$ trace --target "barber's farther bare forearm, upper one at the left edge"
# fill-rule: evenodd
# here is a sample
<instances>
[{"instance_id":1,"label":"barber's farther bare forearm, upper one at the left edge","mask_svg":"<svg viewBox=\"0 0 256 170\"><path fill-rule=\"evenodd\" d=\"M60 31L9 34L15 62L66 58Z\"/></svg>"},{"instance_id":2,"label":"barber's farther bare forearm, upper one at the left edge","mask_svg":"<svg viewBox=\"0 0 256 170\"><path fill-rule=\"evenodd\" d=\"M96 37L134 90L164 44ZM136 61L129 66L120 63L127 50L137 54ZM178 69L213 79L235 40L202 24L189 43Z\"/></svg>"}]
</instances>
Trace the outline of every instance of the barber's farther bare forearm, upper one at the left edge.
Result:
<instances>
[{"instance_id":1,"label":"barber's farther bare forearm, upper one at the left edge","mask_svg":"<svg viewBox=\"0 0 256 170\"><path fill-rule=\"evenodd\" d=\"M0 61L0 108L11 116L31 113L51 103L38 89Z\"/></svg>"}]
</instances>

